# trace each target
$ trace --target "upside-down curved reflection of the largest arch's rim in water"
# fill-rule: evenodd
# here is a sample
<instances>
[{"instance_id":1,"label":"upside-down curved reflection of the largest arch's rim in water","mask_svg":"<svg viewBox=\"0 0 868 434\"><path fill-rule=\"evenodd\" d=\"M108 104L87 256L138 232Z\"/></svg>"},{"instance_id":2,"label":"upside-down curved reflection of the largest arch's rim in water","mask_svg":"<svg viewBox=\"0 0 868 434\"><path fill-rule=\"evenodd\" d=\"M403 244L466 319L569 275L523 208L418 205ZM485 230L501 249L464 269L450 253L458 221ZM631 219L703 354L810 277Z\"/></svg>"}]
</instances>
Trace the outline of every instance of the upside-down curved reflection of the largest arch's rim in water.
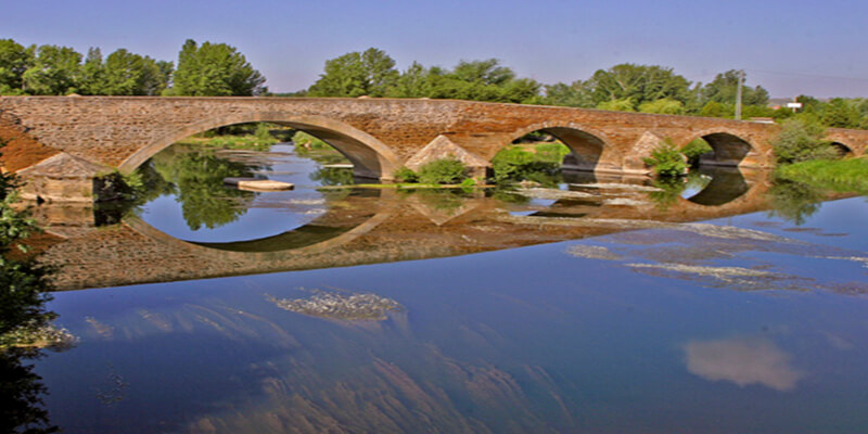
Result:
<instances>
[{"instance_id":1,"label":"upside-down curved reflection of the largest arch's rim in water","mask_svg":"<svg viewBox=\"0 0 868 434\"><path fill-rule=\"evenodd\" d=\"M324 215L302 227L257 240L225 243L195 242L171 237L139 217L125 218L124 224L146 238L195 253L201 257L246 260L282 259L286 254L301 256L322 253L368 233L395 213L391 193L393 192L375 190L372 194L356 196L362 203L330 207ZM353 201L352 197L346 200ZM361 206L371 203L379 206ZM359 213L359 209L366 209L366 212Z\"/></svg>"}]
</instances>

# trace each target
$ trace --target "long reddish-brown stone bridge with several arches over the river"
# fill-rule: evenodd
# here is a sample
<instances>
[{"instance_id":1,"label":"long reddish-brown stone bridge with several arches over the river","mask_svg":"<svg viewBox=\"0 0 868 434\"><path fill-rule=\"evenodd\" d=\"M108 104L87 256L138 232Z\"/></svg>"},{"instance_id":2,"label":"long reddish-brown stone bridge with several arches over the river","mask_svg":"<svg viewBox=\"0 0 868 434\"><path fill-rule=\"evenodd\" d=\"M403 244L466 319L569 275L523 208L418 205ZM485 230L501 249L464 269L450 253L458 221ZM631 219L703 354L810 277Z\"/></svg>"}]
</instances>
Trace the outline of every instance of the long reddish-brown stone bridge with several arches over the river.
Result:
<instances>
[{"instance_id":1,"label":"long reddish-brown stone bridge with several arches over the river","mask_svg":"<svg viewBox=\"0 0 868 434\"><path fill-rule=\"evenodd\" d=\"M252 122L307 131L343 153L356 176L383 180L448 154L480 174L499 150L537 130L570 148L563 164L572 169L646 174L643 158L661 141L684 146L697 138L714 149L704 164L767 168L779 131L719 118L451 100L2 97L0 139L10 142L2 164L25 179L90 181L113 169L130 173L193 133ZM831 129L829 139L863 155L868 131Z\"/></svg>"}]
</instances>

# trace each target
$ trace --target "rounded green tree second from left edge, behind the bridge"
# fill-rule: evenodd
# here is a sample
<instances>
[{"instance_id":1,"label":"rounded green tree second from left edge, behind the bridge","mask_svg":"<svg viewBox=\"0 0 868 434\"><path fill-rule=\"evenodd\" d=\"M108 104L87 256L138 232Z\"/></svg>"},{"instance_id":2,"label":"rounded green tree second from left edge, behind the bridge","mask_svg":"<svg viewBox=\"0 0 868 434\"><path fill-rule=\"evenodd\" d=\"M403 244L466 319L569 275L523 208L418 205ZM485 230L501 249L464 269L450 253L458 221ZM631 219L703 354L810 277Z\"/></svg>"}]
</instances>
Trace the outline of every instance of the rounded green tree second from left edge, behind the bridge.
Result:
<instances>
[{"instance_id":1,"label":"rounded green tree second from left edge, behind the bridge","mask_svg":"<svg viewBox=\"0 0 868 434\"><path fill-rule=\"evenodd\" d=\"M69 47L41 46L22 75L22 88L29 94L63 95L78 91L81 54Z\"/></svg>"}]
</instances>

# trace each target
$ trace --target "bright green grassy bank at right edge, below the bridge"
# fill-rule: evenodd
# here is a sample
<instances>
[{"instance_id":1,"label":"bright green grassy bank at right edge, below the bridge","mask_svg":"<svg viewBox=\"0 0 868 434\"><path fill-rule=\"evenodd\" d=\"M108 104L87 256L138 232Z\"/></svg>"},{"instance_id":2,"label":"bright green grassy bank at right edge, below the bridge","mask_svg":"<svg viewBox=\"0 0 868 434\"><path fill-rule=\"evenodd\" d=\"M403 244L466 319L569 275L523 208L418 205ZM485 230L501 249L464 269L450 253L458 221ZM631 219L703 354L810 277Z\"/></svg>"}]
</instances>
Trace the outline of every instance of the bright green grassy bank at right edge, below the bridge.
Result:
<instances>
[{"instance_id":1,"label":"bright green grassy bank at right edge, below the bridge","mask_svg":"<svg viewBox=\"0 0 868 434\"><path fill-rule=\"evenodd\" d=\"M776 175L837 192L868 194L868 158L814 159L779 166Z\"/></svg>"}]
</instances>

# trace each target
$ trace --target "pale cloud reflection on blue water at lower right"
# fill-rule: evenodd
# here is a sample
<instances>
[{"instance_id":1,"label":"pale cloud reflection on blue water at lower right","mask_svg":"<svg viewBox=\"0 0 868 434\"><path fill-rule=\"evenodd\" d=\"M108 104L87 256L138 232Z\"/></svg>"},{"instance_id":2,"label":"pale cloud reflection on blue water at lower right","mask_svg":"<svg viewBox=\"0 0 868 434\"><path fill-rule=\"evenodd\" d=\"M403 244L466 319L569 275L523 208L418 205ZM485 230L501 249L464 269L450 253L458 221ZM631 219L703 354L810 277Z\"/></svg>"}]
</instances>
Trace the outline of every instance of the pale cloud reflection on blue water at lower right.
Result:
<instances>
[{"instance_id":1,"label":"pale cloud reflection on blue water at lower right","mask_svg":"<svg viewBox=\"0 0 868 434\"><path fill-rule=\"evenodd\" d=\"M762 384L787 392L804 376L790 366L789 354L765 339L691 341L685 353L687 370L709 381L729 381L742 387Z\"/></svg>"}]
</instances>

